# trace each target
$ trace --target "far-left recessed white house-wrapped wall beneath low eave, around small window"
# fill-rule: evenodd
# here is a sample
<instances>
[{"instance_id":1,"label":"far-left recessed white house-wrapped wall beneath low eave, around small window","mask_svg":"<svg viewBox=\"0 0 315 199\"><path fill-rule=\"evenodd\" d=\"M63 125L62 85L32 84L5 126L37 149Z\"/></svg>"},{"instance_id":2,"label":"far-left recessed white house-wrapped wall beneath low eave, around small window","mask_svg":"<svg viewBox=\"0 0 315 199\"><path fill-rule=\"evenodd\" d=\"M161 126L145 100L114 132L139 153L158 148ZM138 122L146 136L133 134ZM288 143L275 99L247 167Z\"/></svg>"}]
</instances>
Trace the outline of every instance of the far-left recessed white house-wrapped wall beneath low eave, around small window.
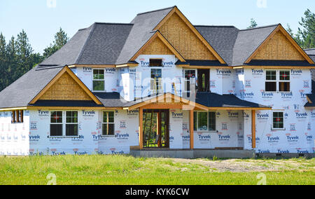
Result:
<instances>
[{"instance_id":1,"label":"far-left recessed white house-wrapped wall beneath low eave, around small window","mask_svg":"<svg viewBox=\"0 0 315 199\"><path fill-rule=\"evenodd\" d=\"M11 112L0 111L0 156L29 154L29 111L24 111L24 123L11 123Z\"/></svg>"}]
</instances>

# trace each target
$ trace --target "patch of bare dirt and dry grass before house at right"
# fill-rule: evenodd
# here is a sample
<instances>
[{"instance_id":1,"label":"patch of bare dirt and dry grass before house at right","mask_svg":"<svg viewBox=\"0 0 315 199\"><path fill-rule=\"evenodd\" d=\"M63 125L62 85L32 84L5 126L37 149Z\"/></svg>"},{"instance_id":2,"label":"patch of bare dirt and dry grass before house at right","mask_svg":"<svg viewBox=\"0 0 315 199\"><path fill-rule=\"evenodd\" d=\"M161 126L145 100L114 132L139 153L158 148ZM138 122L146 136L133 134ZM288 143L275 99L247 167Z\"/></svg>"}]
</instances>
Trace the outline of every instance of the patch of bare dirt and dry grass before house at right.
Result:
<instances>
[{"instance_id":1,"label":"patch of bare dirt and dry grass before house at right","mask_svg":"<svg viewBox=\"0 0 315 199\"><path fill-rule=\"evenodd\" d=\"M294 160L187 160L171 159L174 163L197 164L209 167L213 172L281 172L283 170L315 170L314 163L299 163Z\"/></svg>"}]
</instances>

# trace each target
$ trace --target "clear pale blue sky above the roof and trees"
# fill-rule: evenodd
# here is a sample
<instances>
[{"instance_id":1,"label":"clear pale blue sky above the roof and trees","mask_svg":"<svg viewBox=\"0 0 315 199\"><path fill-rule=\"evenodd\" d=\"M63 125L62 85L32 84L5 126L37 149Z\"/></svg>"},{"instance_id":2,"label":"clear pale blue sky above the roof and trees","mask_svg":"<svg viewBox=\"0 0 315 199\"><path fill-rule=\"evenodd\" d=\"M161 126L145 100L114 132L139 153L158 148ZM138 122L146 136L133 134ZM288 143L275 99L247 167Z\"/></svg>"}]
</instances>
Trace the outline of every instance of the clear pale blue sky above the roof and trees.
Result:
<instances>
[{"instance_id":1,"label":"clear pale blue sky above the roof and trees","mask_svg":"<svg viewBox=\"0 0 315 199\"><path fill-rule=\"evenodd\" d=\"M294 32L307 8L315 12L314 0L0 0L0 32L8 40L25 29L42 53L59 27L73 36L93 22L130 22L137 13L175 5L194 25L244 29L254 18L259 26L290 24Z\"/></svg>"}]
</instances>

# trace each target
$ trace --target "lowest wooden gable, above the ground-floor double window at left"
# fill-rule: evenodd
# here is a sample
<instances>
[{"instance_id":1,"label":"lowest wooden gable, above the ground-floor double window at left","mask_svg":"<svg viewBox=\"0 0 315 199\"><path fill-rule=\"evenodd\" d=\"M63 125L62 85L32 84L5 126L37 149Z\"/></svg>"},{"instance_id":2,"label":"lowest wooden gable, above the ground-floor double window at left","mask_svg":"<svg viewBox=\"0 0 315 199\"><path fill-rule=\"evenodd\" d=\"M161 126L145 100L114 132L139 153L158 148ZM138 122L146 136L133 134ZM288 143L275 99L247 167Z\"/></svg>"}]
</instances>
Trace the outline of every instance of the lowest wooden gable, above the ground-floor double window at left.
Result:
<instances>
[{"instance_id":1,"label":"lowest wooden gable, above the ground-floor double window at left","mask_svg":"<svg viewBox=\"0 0 315 199\"><path fill-rule=\"evenodd\" d=\"M35 104L38 100L92 100L98 105L102 104L69 67L64 67L29 104Z\"/></svg>"}]
</instances>

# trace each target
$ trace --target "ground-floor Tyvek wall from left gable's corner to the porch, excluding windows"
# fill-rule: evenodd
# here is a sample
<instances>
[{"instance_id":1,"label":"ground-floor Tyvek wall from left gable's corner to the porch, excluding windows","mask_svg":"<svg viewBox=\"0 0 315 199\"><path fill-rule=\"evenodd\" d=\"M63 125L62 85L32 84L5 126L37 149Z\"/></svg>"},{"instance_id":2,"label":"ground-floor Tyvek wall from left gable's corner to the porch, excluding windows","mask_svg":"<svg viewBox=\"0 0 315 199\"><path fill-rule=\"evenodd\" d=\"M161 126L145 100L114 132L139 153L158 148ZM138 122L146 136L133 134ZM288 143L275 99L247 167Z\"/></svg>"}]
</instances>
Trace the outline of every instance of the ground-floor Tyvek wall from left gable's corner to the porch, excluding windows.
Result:
<instances>
[{"instance_id":1,"label":"ground-floor Tyvek wall from left gable's corner to the porch, excluding windows","mask_svg":"<svg viewBox=\"0 0 315 199\"><path fill-rule=\"evenodd\" d=\"M78 111L78 137L50 137L50 111L30 111L29 154L123 154L139 145L138 111L115 111L115 135L102 137L102 111ZM65 111L63 112L65 117ZM64 119L65 120L65 119ZM64 127L65 129L65 127Z\"/></svg>"}]
</instances>

